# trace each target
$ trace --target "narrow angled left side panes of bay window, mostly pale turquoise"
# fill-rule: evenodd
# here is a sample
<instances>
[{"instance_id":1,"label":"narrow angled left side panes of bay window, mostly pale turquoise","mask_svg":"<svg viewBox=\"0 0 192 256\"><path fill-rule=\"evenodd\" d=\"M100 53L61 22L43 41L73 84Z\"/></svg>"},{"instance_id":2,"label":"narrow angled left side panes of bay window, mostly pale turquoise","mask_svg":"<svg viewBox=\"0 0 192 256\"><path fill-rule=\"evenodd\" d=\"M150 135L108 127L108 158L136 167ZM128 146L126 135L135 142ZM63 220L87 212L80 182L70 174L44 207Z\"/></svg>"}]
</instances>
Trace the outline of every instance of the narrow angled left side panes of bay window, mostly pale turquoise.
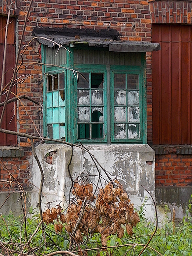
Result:
<instances>
[{"instance_id":1,"label":"narrow angled left side panes of bay window, mostly pale turquoise","mask_svg":"<svg viewBox=\"0 0 192 256\"><path fill-rule=\"evenodd\" d=\"M47 136L65 139L64 73L47 76Z\"/></svg>"}]
</instances>

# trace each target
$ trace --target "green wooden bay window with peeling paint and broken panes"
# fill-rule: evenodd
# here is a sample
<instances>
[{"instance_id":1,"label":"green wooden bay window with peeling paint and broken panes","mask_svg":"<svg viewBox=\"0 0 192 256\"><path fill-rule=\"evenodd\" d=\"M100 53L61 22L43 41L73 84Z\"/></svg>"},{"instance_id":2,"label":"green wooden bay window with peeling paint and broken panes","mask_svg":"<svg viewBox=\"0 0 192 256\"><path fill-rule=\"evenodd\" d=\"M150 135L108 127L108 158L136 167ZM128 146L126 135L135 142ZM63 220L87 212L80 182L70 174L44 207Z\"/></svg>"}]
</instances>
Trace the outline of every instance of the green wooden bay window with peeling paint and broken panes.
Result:
<instances>
[{"instance_id":1,"label":"green wooden bay window with peeling paint and broken panes","mask_svg":"<svg viewBox=\"0 0 192 256\"><path fill-rule=\"evenodd\" d=\"M146 143L145 54L75 50L72 65L67 54L66 69L45 70L45 136L72 143Z\"/></svg>"}]
</instances>

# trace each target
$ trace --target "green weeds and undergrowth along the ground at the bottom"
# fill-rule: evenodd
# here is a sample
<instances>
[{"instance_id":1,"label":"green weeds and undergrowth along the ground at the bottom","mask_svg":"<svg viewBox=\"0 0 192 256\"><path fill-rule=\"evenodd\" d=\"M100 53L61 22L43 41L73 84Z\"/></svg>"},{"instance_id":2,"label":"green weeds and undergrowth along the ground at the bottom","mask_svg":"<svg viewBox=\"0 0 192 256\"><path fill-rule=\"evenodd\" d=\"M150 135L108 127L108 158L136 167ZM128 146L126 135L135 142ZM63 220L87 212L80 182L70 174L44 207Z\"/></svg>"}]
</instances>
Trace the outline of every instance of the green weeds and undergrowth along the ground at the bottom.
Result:
<instances>
[{"instance_id":1,"label":"green weeds and undergrowth along the ground at the bottom","mask_svg":"<svg viewBox=\"0 0 192 256\"><path fill-rule=\"evenodd\" d=\"M155 230L155 224L145 219L144 206L141 207L139 216L141 222L133 227L133 236L129 236L125 230L124 237L118 238L117 235L110 235L107 240L107 249L97 249L87 252L87 256L138 256L144 245L149 241ZM19 255L27 240L34 233L39 224L39 215L30 209L30 216L25 220L23 217L0 216L0 240L1 243L11 250L13 255ZM26 226L25 226L26 225ZM27 236L26 236L27 230ZM46 238L46 241L45 241ZM31 248L36 248L36 254L48 254L54 251L68 250L70 237L65 228L61 233L56 233L54 224L45 226L44 233L39 226L31 241ZM94 234L93 237L84 236L84 241L80 244L81 250L100 248L101 235ZM1 247L2 248L2 247ZM71 251L79 250L74 245ZM24 253L29 252L26 246ZM5 250L0 249L1 254L6 254ZM173 225L165 219L158 228L155 236L146 248L142 256L192 256L192 218L186 217L179 224Z\"/></svg>"}]
</instances>

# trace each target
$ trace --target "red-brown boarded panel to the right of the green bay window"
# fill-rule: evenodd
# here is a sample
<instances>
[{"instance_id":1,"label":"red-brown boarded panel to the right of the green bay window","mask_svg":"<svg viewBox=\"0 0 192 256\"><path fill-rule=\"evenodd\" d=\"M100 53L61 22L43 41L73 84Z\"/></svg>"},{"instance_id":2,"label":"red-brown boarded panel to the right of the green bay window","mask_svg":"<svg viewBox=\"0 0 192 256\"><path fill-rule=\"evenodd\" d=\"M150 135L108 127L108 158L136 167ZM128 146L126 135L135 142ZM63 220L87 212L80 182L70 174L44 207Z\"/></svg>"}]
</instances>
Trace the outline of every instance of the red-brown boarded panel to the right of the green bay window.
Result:
<instances>
[{"instance_id":1,"label":"red-brown boarded panel to the right of the green bay window","mask_svg":"<svg viewBox=\"0 0 192 256\"><path fill-rule=\"evenodd\" d=\"M192 26L152 25L153 144L192 144Z\"/></svg>"}]
</instances>

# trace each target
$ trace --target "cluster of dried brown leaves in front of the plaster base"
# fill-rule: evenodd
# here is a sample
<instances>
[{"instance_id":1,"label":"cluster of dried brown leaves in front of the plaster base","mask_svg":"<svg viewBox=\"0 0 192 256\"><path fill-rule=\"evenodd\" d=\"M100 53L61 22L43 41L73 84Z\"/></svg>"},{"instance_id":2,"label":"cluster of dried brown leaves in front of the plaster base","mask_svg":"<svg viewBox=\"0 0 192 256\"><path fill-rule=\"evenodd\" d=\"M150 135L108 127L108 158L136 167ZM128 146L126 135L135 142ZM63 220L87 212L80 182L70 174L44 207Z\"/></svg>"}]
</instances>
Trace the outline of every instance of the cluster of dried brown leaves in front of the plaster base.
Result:
<instances>
[{"instance_id":1,"label":"cluster of dried brown leaves in front of the plaster base","mask_svg":"<svg viewBox=\"0 0 192 256\"><path fill-rule=\"evenodd\" d=\"M130 203L128 194L123 190L122 185L115 180L116 186L108 183L103 189L100 189L97 197L93 194L92 184L74 184L73 194L76 195L76 203L71 203L66 214L62 214L62 208L48 209L43 213L43 221L46 224L55 224L56 232L61 232L65 223L65 229L68 233L72 233L75 225L80 217L82 203L87 196L87 203L83 212L82 220L77 227L75 233L76 243L83 242L83 236L101 234L101 242L103 246L107 244L107 238L111 234L122 238L124 236L124 227L129 235L132 235L132 227L140 221L139 216L134 212L133 204ZM95 200L96 199L96 200ZM95 201L93 206L91 202ZM124 227L123 227L124 226Z\"/></svg>"}]
</instances>

